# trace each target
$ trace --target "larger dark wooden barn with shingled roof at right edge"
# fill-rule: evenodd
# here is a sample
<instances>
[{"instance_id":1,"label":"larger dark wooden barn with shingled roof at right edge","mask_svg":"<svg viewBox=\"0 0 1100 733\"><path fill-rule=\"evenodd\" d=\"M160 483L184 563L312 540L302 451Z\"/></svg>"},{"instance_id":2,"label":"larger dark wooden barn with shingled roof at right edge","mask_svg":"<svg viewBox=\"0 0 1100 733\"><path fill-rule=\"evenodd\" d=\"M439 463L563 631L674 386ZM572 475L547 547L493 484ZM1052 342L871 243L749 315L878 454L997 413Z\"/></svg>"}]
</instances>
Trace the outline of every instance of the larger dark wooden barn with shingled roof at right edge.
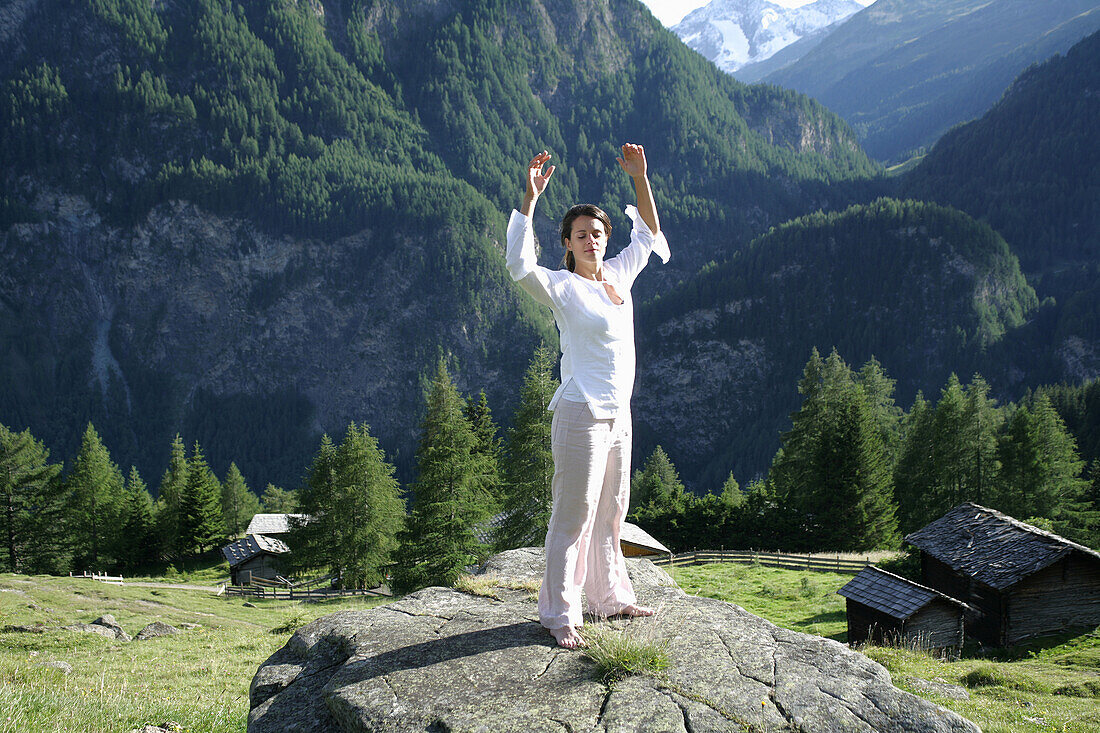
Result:
<instances>
[{"instance_id":1,"label":"larger dark wooden barn with shingled roof at right edge","mask_svg":"<svg viewBox=\"0 0 1100 733\"><path fill-rule=\"evenodd\" d=\"M967 502L905 537L925 586L978 612L967 632L1011 646L1100 624L1100 553Z\"/></svg>"}]
</instances>

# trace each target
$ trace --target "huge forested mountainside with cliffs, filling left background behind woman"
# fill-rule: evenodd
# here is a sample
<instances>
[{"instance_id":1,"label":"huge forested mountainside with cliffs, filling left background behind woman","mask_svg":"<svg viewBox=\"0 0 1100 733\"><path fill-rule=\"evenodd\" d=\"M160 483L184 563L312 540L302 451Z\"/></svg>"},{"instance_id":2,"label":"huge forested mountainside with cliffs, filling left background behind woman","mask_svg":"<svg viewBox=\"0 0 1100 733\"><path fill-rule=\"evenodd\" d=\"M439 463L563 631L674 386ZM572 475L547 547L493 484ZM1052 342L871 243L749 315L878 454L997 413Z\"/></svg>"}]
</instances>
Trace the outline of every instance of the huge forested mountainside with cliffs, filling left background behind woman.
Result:
<instances>
[{"instance_id":1,"label":"huge forested mountainside with cliffs, filling left background behind woman","mask_svg":"<svg viewBox=\"0 0 1100 733\"><path fill-rule=\"evenodd\" d=\"M407 470L440 353L506 416L554 338L501 254L534 152L549 264L569 204L622 231L646 145L678 251L649 292L877 175L636 0L16 0L0 84L0 423L73 456L94 420L146 475L179 431L296 485L353 419Z\"/></svg>"}]
</instances>

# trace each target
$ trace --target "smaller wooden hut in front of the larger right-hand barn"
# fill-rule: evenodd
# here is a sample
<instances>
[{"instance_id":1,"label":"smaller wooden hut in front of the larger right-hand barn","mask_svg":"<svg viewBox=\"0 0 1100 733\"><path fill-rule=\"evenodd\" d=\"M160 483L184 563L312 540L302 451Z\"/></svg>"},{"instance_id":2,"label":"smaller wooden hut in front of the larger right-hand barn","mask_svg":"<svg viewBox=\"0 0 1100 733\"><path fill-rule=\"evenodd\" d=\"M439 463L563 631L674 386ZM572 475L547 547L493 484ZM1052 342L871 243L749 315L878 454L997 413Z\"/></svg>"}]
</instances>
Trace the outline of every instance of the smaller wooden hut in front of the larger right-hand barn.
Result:
<instances>
[{"instance_id":1,"label":"smaller wooden hut in front of the larger right-hand barn","mask_svg":"<svg viewBox=\"0 0 1100 733\"><path fill-rule=\"evenodd\" d=\"M837 591L847 599L848 643L875 642L911 648L963 647L963 601L870 566Z\"/></svg>"}]
</instances>

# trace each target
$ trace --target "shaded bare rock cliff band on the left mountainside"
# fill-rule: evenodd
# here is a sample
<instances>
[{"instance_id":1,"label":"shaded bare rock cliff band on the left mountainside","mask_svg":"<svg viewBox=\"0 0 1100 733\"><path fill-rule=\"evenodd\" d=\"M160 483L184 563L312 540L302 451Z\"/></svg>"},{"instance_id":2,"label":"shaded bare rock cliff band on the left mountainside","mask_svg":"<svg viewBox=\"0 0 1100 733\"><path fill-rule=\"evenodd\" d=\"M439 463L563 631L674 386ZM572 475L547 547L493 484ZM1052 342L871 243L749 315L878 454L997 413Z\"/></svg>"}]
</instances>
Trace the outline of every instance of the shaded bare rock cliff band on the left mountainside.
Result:
<instances>
[{"instance_id":1,"label":"shaded bare rock cliff band on the left mountainside","mask_svg":"<svg viewBox=\"0 0 1100 733\"><path fill-rule=\"evenodd\" d=\"M510 404L538 338L516 322L520 294L487 247L488 307L473 309L425 277L439 253L399 225L326 242L183 201L132 227L79 196L43 192L36 207L43 221L0 237L0 325L26 335L8 342L4 376L41 391L43 422L67 401L142 468L142 448L215 433L219 471L235 459L253 483L296 485L320 434L352 420L393 455L415 441L421 374L439 354L479 364L462 386ZM502 321L507 341L492 335ZM36 407L7 396L19 397Z\"/></svg>"}]
</instances>

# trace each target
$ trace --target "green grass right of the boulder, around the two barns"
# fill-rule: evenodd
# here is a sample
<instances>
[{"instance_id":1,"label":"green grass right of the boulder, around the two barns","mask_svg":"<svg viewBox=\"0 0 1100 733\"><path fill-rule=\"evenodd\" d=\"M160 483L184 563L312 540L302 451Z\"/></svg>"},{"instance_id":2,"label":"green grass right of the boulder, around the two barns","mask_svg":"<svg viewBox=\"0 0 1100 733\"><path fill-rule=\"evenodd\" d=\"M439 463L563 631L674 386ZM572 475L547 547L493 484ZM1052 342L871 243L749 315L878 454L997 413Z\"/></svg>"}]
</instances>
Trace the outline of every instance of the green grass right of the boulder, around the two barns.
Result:
<instances>
[{"instance_id":1,"label":"green grass right of the boulder, around the two barns","mask_svg":"<svg viewBox=\"0 0 1100 733\"><path fill-rule=\"evenodd\" d=\"M676 568L672 576L689 593L730 601L773 623L847 641L844 599L836 590L851 579L751 565ZM893 647L866 647L894 685L972 720L986 733L1100 731L1100 633L1047 638L1011 653L961 659ZM912 681L947 682L967 689L969 700L920 692Z\"/></svg>"}]
</instances>

